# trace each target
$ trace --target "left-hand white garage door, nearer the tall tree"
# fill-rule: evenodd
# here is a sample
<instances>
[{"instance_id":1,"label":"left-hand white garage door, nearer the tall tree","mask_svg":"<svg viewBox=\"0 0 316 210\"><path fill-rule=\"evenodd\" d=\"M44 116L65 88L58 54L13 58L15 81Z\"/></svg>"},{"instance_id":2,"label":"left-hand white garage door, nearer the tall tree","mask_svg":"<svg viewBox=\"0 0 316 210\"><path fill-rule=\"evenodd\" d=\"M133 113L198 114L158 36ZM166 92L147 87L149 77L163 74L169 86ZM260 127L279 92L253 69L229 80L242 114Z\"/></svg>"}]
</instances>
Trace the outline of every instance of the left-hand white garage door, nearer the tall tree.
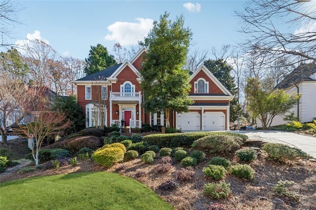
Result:
<instances>
[{"instance_id":1,"label":"left-hand white garage door, nearer the tall tree","mask_svg":"<svg viewBox=\"0 0 316 210\"><path fill-rule=\"evenodd\" d=\"M179 113L177 123L177 129L181 129L182 131L199 131L200 115L198 112Z\"/></svg>"}]
</instances>

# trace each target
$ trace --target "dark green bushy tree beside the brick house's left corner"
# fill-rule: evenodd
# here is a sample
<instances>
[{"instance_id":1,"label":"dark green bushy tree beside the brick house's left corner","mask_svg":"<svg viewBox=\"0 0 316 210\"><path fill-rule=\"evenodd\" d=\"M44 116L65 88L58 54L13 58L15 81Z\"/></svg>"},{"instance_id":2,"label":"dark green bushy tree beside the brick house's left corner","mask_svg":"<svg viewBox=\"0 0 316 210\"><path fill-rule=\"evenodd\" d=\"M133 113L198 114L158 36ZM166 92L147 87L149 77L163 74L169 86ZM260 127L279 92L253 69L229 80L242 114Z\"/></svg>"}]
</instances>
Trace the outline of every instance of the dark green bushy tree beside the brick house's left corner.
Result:
<instances>
[{"instance_id":1,"label":"dark green bushy tree beside the brick house's left corner","mask_svg":"<svg viewBox=\"0 0 316 210\"><path fill-rule=\"evenodd\" d=\"M76 96L57 97L53 110L64 113L66 115L64 119L65 122L72 122L71 126L64 131L65 135L76 133L84 129L83 112L77 104Z\"/></svg>"}]
</instances>

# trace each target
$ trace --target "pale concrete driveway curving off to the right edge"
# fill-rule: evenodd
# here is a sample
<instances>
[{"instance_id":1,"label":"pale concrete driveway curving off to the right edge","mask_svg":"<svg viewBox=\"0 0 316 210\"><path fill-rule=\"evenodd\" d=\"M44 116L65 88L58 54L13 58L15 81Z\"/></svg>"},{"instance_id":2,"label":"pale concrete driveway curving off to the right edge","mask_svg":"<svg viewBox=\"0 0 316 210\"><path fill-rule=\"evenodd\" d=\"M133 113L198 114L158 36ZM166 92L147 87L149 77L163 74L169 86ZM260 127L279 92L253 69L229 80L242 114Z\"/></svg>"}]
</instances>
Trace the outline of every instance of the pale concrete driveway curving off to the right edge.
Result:
<instances>
[{"instance_id":1,"label":"pale concrete driveway curving off to the right edge","mask_svg":"<svg viewBox=\"0 0 316 210\"><path fill-rule=\"evenodd\" d=\"M284 143L302 149L316 158L316 138L284 131L232 131L245 134L252 140L262 140L272 143Z\"/></svg>"}]
</instances>

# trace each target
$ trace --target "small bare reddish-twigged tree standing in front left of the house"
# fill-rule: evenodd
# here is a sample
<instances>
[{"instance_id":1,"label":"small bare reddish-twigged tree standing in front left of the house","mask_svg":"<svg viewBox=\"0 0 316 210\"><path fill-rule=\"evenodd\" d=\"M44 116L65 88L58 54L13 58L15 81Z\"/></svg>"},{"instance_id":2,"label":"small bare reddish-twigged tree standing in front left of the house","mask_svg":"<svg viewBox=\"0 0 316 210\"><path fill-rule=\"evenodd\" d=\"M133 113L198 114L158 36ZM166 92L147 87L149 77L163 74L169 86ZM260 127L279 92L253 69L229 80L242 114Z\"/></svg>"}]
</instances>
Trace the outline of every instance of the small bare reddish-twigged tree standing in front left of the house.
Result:
<instances>
[{"instance_id":1,"label":"small bare reddish-twigged tree standing in front left of the house","mask_svg":"<svg viewBox=\"0 0 316 210\"><path fill-rule=\"evenodd\" d=\"M65 121L66 114L63 112L51 111L48 98L43 94L43 88L34 88L33 90L30 93L30 103L34 110L31 113L33 121L26 122L25 125L19 124L13 131L31 140L34 139L35 142L31 149L35 164L38 166L39 152L43 140L69 127L71 122L69 120ZM27 118L26 115L24 117Z\"/></svg>"}]
</instances>

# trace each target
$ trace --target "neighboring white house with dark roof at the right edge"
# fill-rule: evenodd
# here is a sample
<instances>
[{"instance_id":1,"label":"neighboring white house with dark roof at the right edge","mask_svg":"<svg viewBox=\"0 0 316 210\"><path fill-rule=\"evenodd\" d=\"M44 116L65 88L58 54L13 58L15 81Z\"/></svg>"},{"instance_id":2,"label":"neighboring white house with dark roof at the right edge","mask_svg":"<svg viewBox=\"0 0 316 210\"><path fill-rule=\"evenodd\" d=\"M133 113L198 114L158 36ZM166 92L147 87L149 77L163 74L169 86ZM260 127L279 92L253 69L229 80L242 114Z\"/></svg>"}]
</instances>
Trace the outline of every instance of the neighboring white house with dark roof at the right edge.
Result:
<instances>
[{"instance_id":1,"label":"neighboring white house with dark roof at the right edge","mask_svg":"<svg viewBox=\"0 0 316 210\"><path fill-rule=\"evenodd\" d=\"M298 117L300 122L311 122L316 119L316 64L301 64L275 88L284 89L287 94L301 94L299 103L289 110L294 112L294 116ZM271 126L286 124L287 121L284 121L283 117L275 116ZM257 120L257 127L262 127L260 120Z\"/></svg>"}]
</instances>

